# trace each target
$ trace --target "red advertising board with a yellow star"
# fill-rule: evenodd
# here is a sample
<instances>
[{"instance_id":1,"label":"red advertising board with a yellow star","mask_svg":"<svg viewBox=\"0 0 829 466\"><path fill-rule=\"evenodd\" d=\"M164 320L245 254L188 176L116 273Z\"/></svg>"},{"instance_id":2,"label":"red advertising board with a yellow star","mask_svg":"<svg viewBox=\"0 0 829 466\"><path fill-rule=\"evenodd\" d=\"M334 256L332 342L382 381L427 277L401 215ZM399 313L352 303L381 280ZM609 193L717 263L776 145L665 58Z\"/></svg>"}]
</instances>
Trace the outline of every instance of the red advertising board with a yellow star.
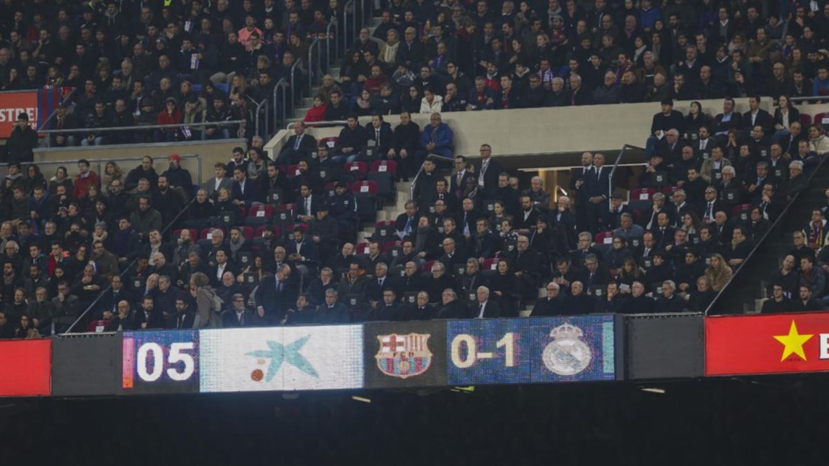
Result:
<instances>
[{"instance_id":1,"label":"red advertising board with a yellow star","mask_svg":"<svg viewBox=\"0 0 829 466\"><path fill-rule=\"evenodd\" d=\"M705 318L705 375L829 371L829 313Z\"/></svg>"}]
</instances>

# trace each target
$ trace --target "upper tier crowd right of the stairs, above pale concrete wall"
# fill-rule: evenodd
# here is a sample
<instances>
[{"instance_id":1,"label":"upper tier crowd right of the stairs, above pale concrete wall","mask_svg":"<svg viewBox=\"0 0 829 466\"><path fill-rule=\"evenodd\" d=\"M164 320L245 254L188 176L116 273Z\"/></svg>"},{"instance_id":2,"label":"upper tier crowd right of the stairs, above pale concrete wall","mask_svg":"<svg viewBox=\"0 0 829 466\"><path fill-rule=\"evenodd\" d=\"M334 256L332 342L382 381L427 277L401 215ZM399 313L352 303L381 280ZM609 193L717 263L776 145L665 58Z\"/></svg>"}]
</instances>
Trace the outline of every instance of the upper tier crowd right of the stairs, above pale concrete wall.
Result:
<instances>
[{"instance_id":1,"label":"upper tier crowd right of the stairs, above pale concrete wall","mask_svg":"<svg viewBox=\"0 0 829 466\"><path fill-rule=\"evenodd\" d=\"M305 120L829 94L821 2L586 3L392 1Z\"/></svg>"}]
</instances>

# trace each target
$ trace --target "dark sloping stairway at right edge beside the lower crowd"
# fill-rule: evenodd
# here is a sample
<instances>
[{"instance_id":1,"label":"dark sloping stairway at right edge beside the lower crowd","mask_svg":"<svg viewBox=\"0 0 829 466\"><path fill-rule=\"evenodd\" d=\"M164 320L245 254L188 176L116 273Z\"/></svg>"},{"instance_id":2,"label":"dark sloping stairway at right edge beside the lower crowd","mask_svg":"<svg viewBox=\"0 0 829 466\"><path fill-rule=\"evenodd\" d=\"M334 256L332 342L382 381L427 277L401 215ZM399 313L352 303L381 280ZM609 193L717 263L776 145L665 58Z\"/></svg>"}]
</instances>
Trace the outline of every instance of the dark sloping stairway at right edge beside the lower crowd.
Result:
<instances>
[{"instance_id":1,"label":"dark sloping stairway at right edge beside the lower crowd","mask_svg":"<svg viewBox=\"0 0 829 466\"><path fill-rule=\"evenodd\" d=\"M784 255L793 248L792 233L809 221L813 207L827 205L824 195L827 187L829 163L824 163L809 182L807 192L789 208L750 258L749 264L734 276L727 292L715 304L717 313L759 313L764 300L769 297L766 294L769 279L780 268Z\"/></svg>"}]
</instances>

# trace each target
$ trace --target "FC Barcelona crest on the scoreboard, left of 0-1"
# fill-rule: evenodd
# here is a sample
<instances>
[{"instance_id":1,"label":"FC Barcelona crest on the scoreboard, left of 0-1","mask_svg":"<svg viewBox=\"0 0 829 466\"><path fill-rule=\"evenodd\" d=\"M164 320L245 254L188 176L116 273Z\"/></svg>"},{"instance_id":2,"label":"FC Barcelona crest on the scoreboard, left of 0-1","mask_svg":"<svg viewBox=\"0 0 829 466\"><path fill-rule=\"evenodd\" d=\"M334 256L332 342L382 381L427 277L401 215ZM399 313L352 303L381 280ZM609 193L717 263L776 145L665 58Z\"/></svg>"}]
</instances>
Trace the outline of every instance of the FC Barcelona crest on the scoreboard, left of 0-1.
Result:
<instances>
[{"instance_id":1,"label":"FC Barcelona crest on the scoreboard, left of 0-1","mask_svg":"<svg viewBox=\"0 0 829 466\"><path fill-rule=\"evenodd\" d=\"M432 365L429 337L429 333L377 335L377 368L386 376L401 379L423 374Z\"/></svg>"}]
</instances>

